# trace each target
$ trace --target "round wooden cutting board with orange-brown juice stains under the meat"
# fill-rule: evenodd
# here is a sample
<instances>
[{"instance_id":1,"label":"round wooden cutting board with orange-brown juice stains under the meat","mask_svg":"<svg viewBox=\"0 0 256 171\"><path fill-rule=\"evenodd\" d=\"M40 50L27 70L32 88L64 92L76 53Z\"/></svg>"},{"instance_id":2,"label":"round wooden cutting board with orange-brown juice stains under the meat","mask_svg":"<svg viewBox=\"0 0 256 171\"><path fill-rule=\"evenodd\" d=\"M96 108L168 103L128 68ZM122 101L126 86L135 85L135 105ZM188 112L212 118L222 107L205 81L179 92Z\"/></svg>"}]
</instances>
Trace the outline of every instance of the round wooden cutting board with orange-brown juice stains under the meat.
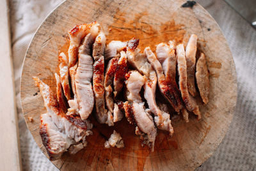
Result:
<instances>
[{"instance_id":1,"label":"round wooden cutting board with orange-brown juice stains under the meat","mask_svg":"<svg viewBox=\"0 0 256 171\"><path fill-rule=\"evenodd\" d=\"M114 128L97 124L93 116L93 135L88 146L76 155L64 154L52 161L60 170L194 170L216 150L232 121L236 105L236 70L227 41L211 15L199 4L182 8L186 1L112 1L68 0L47 17L36 32L24 61L20 94L28 128L38 147L46 154L39 135L40 114L46 110L32 77L38 76L55 91L54 73L58 72L58 54L67 50L67 31L77 24L97 20L110 40L140 38L140 48L155 48L168 40L188 41L198 35L200 49L209 67L211 91L209 103L200 103L202 119L190 122L173 120L175 133L169 137L159 131L155 151L141 147L134 127L123 119L115 130L124 138L124 149L104 149L104 141ZM198 98L200 101L200 99ZM28 121L33 117L33 122ZM47 156L47 154L46 154Z\"/></svg>"}]
</instances>

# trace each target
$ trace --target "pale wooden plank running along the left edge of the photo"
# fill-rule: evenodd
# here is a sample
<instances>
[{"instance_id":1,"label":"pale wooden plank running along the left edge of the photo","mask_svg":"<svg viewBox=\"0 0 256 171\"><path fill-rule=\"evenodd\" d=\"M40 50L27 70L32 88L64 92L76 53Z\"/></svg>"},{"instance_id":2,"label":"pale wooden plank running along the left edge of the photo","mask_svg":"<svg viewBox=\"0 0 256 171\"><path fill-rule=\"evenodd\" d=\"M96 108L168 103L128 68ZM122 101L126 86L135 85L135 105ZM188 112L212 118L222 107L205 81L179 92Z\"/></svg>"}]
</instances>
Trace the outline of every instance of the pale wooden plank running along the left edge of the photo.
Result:
<instances>
[{"instance_id":1,"label":"pale wooden plank running along the left edge of the photo","mask_svg":"<svg viewBox=\"0 0 256 171\"><path fill-rule=\"evenodd\" d=\"M19 130L13 85L8 1L0 0L0 170L20 170Z\"/></svg>"}]
</instances>

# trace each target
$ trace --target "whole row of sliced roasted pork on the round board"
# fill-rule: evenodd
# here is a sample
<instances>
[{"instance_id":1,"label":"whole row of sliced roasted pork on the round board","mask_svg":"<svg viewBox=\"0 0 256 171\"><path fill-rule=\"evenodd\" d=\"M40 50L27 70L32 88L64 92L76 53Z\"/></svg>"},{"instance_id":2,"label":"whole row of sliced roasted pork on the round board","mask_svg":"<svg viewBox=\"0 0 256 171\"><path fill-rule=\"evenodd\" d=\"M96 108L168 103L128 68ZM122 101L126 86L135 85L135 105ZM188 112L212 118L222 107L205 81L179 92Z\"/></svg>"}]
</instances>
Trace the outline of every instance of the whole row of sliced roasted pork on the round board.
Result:
<instances>
[{"instance_id":1,"label":"whole row of sliced roasted pork on the round board","mask_svg":"<svg viewBox=\"0 0 256 171\"><path fill-rule=\"evenodd\" d=\"M92 134L88 117L93 108L97 121L108 126L125 116L152 151L157 129L170 136L174 132L173 114L164 106L181 113L186 122L188 111L201 118L194 97L198 90L208 103L209 75L202 52L196 62L195 34L186 49L169 41L157 45L156 54L150 47L141 53L136 38L111 41L106 46L106 36L97 22L76 26L68 34L68 57L60 53L60 76L55 74L56 94L34 77L47 108L41 115L40 135L51 160L65 151L75 154L85 147L86 136ZM156 100L157 87L161 93L157 96L163 96L165 104ZM114 131L105 146L124 147L120 133Z\"/></svg>"}]
</instances>

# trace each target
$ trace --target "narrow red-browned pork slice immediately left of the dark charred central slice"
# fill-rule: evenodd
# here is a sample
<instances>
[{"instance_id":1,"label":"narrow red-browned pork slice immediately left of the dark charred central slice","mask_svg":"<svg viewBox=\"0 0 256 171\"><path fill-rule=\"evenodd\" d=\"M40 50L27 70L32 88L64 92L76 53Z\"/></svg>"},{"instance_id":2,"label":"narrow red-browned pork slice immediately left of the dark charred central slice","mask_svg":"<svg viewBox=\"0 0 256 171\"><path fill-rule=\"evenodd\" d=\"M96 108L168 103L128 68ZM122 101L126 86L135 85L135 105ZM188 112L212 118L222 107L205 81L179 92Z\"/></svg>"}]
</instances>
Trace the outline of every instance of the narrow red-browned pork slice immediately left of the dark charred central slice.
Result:
<instances>
[{"instance_id":1,"label":"narrow red-browned pork slice immediately left of the dark charred central slice","mask_svg":"<svg viewBox=\"0 0 256 171\"><path fill-rule=\"evenodd\" d=\"M114 109L112 85L115 77L117 63L118 63L118 57L114 57L110 59L110 61L108 62L108 66L106 68L105 80L104 80L106 105L108 107L108 110L111 113L113 113L113 109Z\"/></svg>"}]
</instances>

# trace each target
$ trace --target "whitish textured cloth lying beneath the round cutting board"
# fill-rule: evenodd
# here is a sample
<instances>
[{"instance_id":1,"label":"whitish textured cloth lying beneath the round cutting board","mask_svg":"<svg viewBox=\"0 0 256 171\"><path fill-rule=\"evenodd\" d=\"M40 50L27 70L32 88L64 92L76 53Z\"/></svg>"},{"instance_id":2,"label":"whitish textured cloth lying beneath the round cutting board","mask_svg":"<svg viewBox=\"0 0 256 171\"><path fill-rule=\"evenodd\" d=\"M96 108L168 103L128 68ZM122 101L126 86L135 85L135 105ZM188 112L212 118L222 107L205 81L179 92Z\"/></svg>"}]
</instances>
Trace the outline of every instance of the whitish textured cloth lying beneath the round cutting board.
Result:
<instances>
[{"instance_id":1,"label":"whitish textured cloth lying beneath the round cutting board","mask_svg":"<svg viewBox=\"0 0 256 171\"><path fill-rule=\"evenodd\" d=\"M20 73L26 49L42 20L62 0L10 0L12 52L23 170L58 170L37 147L21 114ZM197 170L256 169L256 30L222 0L198 0L220 25L237 70L236 112L214 154Z\"/></svg>"}]
</instances>

